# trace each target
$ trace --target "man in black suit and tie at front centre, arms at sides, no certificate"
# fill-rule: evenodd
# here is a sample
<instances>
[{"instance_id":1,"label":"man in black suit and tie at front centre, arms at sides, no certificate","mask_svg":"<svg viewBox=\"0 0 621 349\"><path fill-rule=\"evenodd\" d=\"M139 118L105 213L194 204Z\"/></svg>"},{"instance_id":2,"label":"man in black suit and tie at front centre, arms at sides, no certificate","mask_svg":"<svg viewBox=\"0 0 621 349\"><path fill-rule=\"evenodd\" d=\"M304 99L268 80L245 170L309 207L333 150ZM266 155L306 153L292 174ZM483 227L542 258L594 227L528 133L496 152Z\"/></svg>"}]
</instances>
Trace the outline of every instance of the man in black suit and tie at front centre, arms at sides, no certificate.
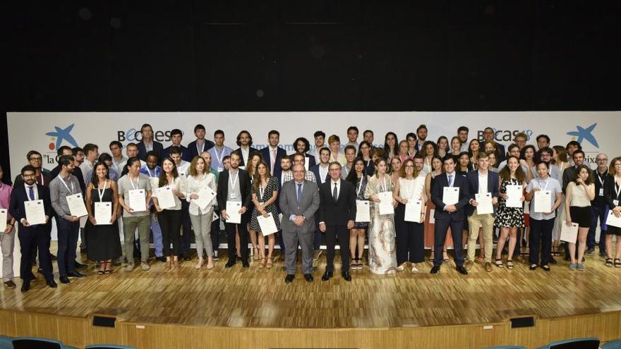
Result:
<instances>
[{"instance_id":1,"label":"man in black suit and tie at front centre, arms at sides, no certificate","mask_svg":"<svg viewBox=\"0 0 621 349\"><path fill-rule=\"evenodd\" d=\"M330 180L319 186L319 230L325 233L327 266L321 280L332 278L334 271L334 245L339 239L341 247L341 273L346 281L349 274L349 229L356 219L356 190L347 180L341 180L341 164L330 164Z\"/></svg>"}]
</instances>

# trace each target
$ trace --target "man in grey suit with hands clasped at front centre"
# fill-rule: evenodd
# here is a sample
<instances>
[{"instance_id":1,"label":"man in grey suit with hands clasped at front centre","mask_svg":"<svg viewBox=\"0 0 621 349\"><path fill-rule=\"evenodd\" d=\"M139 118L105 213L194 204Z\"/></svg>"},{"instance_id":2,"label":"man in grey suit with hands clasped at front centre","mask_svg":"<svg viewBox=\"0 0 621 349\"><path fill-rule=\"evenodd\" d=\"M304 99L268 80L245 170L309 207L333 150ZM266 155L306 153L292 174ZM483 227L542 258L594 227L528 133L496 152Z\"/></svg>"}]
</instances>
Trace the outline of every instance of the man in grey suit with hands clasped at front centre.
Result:
<instances>
[{"instance_id":1,"label":"man in grey suit with hands clasped at front centre","mask_svg":"<svg viewBox=\"0 0 621 349\"><path fill-rule=\"evenodd\" d=\"M302 247L302 272L308 282L313 282L313 236L315 234L315 212L319 208L317 184L304 179L306 169L294 165L293 180L282 185L280 210L282 211L282 240L284 240L285 283L291 283L296 276L298 244Z\"/></svg>"}]
</instances>

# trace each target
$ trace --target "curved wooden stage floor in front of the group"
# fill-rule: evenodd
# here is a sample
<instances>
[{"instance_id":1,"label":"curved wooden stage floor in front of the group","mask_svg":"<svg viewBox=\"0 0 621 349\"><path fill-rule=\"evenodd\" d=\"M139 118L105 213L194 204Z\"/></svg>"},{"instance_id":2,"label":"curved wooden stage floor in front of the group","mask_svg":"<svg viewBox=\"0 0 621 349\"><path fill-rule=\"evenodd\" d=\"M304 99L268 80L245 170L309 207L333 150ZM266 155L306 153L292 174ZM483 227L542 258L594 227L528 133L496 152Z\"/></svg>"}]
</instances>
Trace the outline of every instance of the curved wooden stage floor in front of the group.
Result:
<instances>
[{"instance_id":1,"label":"curved wooden stage floor in front of the group","mask_svg":"<svg viewBox=\"0 0 621 349\"><path fill-rule=\"evenodd\" d=\"M585 271L569 271L563 261L550 272L529 271L517 262L513 270L494 267L490 273L475 264L462 276L451 260L435 275L424 262L418 264L419 274L378 276L365 268L353 270L353 280L346 282L338 263L334 278L320 280L324 252L313 283L299 273L291 284L284 283L283 262L272 269L259 269L256 261L248 269L241 263L225 269L225 262L221 258L211 270L183 262L171 271L152 262L150 271L125 273L115 267L102 276L89 264L88 277L56 289L45 287L37 274L28 293L20 293L20 281L16 289L0 288L0 331L50 336L76 346L138 348L378 348L387 343L530 348L577 336L621 338L621 268L605 267L596 253L586 257ZM94 315L116 317L116 327L92 326ZM534 317L535 326L511 329L509 319L517 317Z\"/></svg>"}]
</instances>

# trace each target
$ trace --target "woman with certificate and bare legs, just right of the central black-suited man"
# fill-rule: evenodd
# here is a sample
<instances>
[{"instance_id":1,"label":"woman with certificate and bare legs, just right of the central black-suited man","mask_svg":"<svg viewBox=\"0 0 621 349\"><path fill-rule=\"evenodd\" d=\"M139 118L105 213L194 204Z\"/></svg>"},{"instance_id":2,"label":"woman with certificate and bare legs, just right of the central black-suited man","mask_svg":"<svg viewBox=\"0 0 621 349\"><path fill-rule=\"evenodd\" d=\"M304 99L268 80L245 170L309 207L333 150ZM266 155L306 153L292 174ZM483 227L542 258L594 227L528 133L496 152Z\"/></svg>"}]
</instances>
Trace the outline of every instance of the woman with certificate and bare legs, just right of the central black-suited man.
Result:
<instances>
[{"instance_id":1,"label":"woman with certificate and bare legs, just right of the central black-suited man","mask_svg":"<svg viewBox=\"0 0 621 349\"><path fill-rule=\"evenodd\" d=\"M346 180L356 188L356 218L360 217L363 209L369 213L368 201L364 198L364 191L368 183L366 163L361 157L354 159L354 171L349 171ZM364 235L368 228L368 220L355 221L354 228L349 231L349 252L351 254L351 269L362 269L362 255L364 252Z\"/></svg>"}]
</instances>

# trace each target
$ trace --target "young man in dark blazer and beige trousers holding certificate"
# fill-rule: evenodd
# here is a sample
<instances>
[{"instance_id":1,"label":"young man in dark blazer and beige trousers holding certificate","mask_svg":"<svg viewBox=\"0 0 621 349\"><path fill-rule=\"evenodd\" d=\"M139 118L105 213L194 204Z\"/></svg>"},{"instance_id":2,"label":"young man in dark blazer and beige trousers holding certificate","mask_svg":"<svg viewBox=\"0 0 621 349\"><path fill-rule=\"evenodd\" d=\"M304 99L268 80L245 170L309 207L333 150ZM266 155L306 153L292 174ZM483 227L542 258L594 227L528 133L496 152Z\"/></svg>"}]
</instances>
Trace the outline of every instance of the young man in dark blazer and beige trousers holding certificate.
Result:
<instances>
[{"instance_id":1,"label":"young man in dark blazer and beige trousers holding certificate","mask_svg":"<svg viewBox=\"0 0 621 349\"><path fill-rule=\"evenodd\" d=\"M476 240L478 230L483 230L485 242L485 269L492 271L492 249L494 231L493 205L498 203L498 173L488 171L489 156L485 152L479 152L476 162L478 170L467 174L468 192L470 194L469 205L466 207L468 216L468 262L466 270L474 265L476 255Z\"/></svg>"}]
</instances>

